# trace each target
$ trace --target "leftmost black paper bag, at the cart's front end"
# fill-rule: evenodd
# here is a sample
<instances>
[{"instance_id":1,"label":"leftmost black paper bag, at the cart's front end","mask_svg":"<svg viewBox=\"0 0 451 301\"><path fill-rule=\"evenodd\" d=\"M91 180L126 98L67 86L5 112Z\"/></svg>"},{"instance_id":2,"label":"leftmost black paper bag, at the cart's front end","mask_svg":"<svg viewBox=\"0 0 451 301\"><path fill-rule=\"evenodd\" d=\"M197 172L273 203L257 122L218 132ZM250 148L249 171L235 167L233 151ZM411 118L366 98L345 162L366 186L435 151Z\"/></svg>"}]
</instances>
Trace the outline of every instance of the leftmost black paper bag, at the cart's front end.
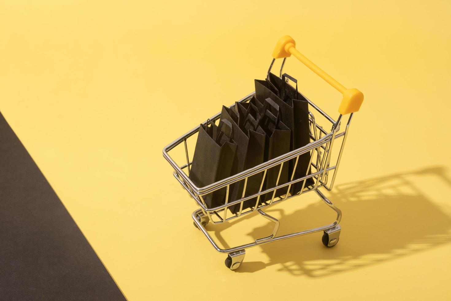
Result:
<instances>
[{"instance_id":1,"label":"leftmost black paper bag, at the cart's front end","mask_svg":"<svg viewBox=\"0 0 451 301\"><path fill-rule=\"evenodd\" d=\"M221 120L218 126L210 120L200 125L189 172L196 186L204 187L231 176L237 152L232 136L233 127L228 120ZM225 203L225 195L226 188L221 188L202 197L207 208L214 208Z\"/></svg>"}]
</instances>

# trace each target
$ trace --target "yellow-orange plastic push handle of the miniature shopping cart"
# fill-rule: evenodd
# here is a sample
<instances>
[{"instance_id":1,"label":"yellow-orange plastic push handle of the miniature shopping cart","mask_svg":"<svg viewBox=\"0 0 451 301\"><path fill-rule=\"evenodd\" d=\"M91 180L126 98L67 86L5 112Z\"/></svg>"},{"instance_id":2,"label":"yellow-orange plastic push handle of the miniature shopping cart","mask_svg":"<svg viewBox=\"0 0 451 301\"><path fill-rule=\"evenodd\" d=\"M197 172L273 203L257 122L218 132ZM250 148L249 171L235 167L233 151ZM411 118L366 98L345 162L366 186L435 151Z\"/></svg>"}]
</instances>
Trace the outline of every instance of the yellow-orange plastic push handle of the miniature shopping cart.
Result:
<instances>
[{"instance_id":1,"label":"yellow-orange plastic push handle of the miniature shopping cart","mask_svg":"<svg viewBox=\"0 0 451 301\"><path fill-rule=\"evenodd\" d=\"M340 114L346 115L359 111L360 106L364 101L364 94L356 88L346 89L345 86L337 82L336 79L332 78L317 65L313 64L313 62L306 58L302 53L297 51L295 46L296 42L292 37L283 36L279 39L279 41L277 41L276 47L274 48L274 51L272 51L272 57L275 59L280 59L282 57L290 57L291 55L295 56L304 65L343 94L343 100L338 108L338 112L340 112Z\"/></svg>"}]
</instances>

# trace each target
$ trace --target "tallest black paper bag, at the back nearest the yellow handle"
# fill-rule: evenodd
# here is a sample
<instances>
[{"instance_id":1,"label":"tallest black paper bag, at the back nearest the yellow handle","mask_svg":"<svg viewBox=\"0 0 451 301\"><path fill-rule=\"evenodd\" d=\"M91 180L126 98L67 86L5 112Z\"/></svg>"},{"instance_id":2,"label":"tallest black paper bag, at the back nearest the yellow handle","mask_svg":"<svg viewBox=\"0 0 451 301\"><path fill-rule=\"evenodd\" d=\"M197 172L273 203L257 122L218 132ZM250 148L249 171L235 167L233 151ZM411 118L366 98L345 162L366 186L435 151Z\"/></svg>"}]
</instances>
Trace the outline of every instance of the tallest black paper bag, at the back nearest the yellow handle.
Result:
<instances>
[{"instance_id":1,"label":"tallest black paper bag, at the back nearest the yellow handle","mask_svg":"<svg viewBox=\"0 0 451 301\"><path fill-rule=\"evenodd\" d=\"M288 77L296 83L293 88L289 83L285 82ZM263 103L267 98L271 98L279 106L280 119L291 130L290 150L301 148L310 142L310 132L308 123L308 101L297 92L297 80L287 74L283 74L283 78L270 73L269 79L255 80L255 94L259 102ZM306 176L307 171L310 173L308 166L310 161L310 152L299 156L293 179L299 179ZM291 160L289 164L289 175L293 173L295 160ZM313 179L308 178L305 187L313 184ZM297 194L301 190L303 181L292 185L290 193Z\"/></svg>"}]
</instances>

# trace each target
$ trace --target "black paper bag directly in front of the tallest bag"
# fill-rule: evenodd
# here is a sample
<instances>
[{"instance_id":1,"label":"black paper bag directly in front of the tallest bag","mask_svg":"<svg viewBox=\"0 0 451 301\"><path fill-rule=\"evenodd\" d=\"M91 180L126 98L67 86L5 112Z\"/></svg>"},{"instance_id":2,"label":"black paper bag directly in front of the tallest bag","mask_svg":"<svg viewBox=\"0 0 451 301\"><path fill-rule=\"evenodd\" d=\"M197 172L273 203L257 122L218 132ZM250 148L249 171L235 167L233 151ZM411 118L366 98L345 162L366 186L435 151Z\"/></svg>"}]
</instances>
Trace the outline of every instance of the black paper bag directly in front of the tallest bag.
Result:
<instances>
[{"instance_id":1,"label":"black paper bag directly in front of the tallest bag","mask_svg":"<svg viewBox=\"0 0 451 301\"><path fill-rule=\"evenodd\" d=\"M266 134L265 144L265 161L279 157L290 151L290 129L283 124L280 118L274 116L269 110L265 110L264 115L260 116L258 125ZM285 184L288 181L288 164L284 163L282 170L281 165L269 168L266 173L265 189L270 189L274 186ZM279 176L280 172L280 176ZM277 177L279 181L277 182ZM262 197L263 201L271 200L272 197L286 194L288 186L279 188L275 191L269 192Z\"/></svg>"}]
</instances>

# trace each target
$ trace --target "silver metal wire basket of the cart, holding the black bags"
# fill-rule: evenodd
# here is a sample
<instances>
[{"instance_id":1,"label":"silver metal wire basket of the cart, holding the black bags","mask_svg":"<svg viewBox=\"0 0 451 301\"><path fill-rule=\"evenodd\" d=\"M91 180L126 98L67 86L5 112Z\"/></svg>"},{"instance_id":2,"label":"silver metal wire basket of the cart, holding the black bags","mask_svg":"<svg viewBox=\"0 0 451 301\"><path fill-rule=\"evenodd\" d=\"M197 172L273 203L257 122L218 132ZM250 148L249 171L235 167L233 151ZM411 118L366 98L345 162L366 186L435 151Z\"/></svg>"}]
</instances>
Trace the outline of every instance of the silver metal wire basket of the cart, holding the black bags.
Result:
<instances>
[{"instance_id":1,"label":"silver metal wire basket of the cart, holding the black bags","mask_svg":"<svg viewBox=\"0 0 451 301\"><path fill-rule=\"evenodd\" d=\"M248 96L242 98L239 100L239 102L247 102L249 101L252 96L255 94L251 93ZM307 99L307 98L306 98ZM308 100L308 99L307 99ZM188 155L188 146L187 146L187 139L191 137L193 134L197 133L199 130L199 126L195 127L193 130L189 131L188 133L181 136L179 139L176 139L171 144L167 145L166 148L163 149L163 156L166 158L166 160L171 164L171 166L174 168L174 176L179 181L179 183L182 185L182 187L189 193L193 199L196 200L196 203L201 207L200 210L202 213L207 215L208 219L213 223L221 223L230 221L231 219L238 218L239 216L259 211L260 209L270 206L272 204L277 204L281 201L284 201L286 199L290 199L291 197L294 197L299 194L304 194L312 190L317 190L319 187L325 187L327 190L331 190L333 187L333 184L335 182L336 178L336 172L338 170L338 166L341 161L341 156L343 153L345 140L347 138L348 129L350 125L350 121L352 119L352 114L350 115L348 122L346 124L346 129L343 132L339 132L340 130L340 124L342 116L340 115L337 120L332 119L329 115L327 115L326 112L322 111L321 108L319 108L317 105L315 105L313 102L308 100L309 105L313 108L314 111L318 112L321 116L325 117L325 119L330 122L331 130L326 131L324 128L316 122L315 114L313 114L312 111L309 111L309 125L310 125L310 140L311 142L307 145L305 145L302 148L296 149L291 151L290 153L286 153L280 157L274 158L268 162L264 162L256 167L253 167L249 170L240 172L239 174L230 176L224 180L217 181L216 183L212 183L211 185L207 185L205 187L197 187L193 184L193 182L189 179L189 167L192 162L189 161L189 155ZM210 120L214 122L217 120L220 116L220 113L216 114L215 116L212 116ZM206 121L204 122L204 124ZM340 152L336 161L336 164L331 166L330 160L331 160L331 150L332 146L334 144L334 141L338 138L343 137ZM186 155L186 161L187 163L181 166L178 166L175 161L169 156L168 152L172 150L173 148L177 147L179 144L184 142L184 150ZM282 170L282 167L284 164L288 164L290 160L295 160L295 168L299 160L299 156L310 152L310 162L309 165L312 167L312 172L310 174L306 174L303 177L294 179L294 172L290 177L290 181L279 185L279 178L280 173ZM314 160L315 159L315 160ZM270 168L274 168L276 166L279 166L279 175L276 181L276 185L274 187L267 188L266 190L262 190L264 178L266 176L267 170ZM294 170L295 170L294 168ZM184 170L188 171L188 175L184 172ZM327 186L328 183L328 176L331 171L334 171L332 180L330 181L330 186ZM262 183L260 185L260 190L258 193L249 195L244 197L247 181L250 176L256 175L258 173L262 173ZM308 178L312 178L314 180L314 185L310 185L308 187L304 187L306 180ZM238 181L244 181L244 188L243 188L243 194L241 199L237 199L234 201L229 200L229 190L230 185L234 184ZM289 195L290 187L298 182L303 182L302 189L299 191L298 194ZM287 187L287 193L282 196L275 197L276 190ZM226 200L225 203L221 206L217 206L215 208L207 208L203 196L209 193L212 193L219 189L226 188ZM260 202L261 195L268 194L272 192L272 199L269 202ZM243 210L243 203L244 201L248 199L257 198L256 204L251 208L246 208ZM230 206L233 206L235 204L240 204L239 212L233 214L231 213L231 216L227 217L228 211L227 208ZM259 212L260 213L260 212ZM262 213L260 213L262 214Z\"/></svg>"}]
</instances>

